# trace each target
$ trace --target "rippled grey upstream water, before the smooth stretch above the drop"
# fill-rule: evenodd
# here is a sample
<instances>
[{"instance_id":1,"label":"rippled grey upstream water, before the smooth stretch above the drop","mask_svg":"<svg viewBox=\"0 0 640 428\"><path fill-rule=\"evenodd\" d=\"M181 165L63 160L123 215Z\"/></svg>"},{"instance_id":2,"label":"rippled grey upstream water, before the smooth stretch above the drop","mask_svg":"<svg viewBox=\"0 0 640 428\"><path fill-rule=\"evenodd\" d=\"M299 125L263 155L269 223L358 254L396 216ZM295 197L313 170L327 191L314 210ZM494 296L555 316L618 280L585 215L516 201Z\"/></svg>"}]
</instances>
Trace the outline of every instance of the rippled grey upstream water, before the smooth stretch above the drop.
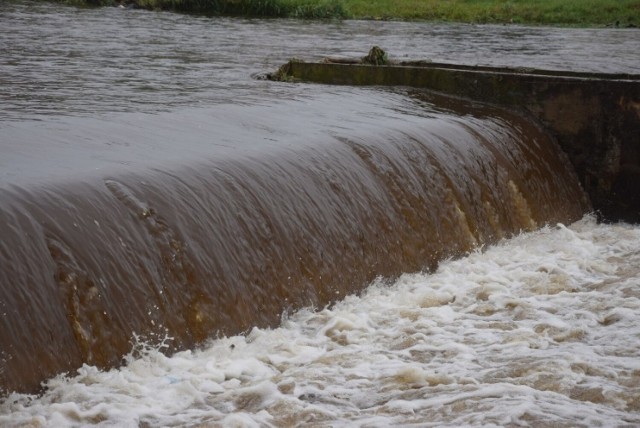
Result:
<instances>
[{"instance_id":1,"label":"rippled grey upstream water, before the smooth stretch above the drop","mask_svg":"<svg viewBox=\"0 0 640 428\"><path fill-rule=\"evenodd\" d=\"M289 58L364 55L469 65L640 73L637 29L230 19L0 3L0 121L160 112L281 99L322 87L255 73Z\"/></svg>"}]
</instances>

